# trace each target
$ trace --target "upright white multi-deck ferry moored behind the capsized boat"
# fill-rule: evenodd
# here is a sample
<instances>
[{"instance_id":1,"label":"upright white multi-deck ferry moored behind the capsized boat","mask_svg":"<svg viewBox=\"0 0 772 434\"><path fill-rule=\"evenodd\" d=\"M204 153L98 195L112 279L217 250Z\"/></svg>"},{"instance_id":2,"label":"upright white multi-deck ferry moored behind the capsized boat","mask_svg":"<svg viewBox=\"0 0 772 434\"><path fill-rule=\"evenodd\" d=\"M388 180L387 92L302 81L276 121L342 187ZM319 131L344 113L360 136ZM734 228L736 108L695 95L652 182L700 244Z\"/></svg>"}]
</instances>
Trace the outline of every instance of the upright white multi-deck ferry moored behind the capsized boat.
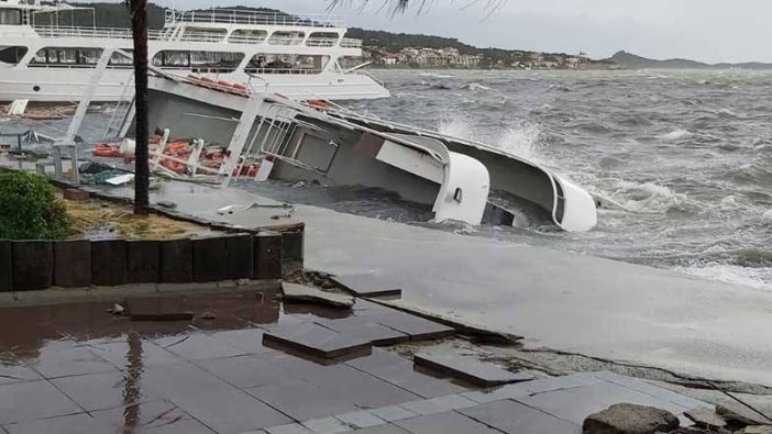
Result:
<instances>
[{"instance_id":1,"label":"upright white multi-deck ferry moored behind the capsized boat","mask_svg":"<svg viewBox=\"0 0 772 434\"><path fill-rule=\"evenodd\" d=\"M76 13L90 13L93 25L67 26ZM148 31L148 57L170 74L264 85L296 100L388 97L353 64L362 41L345 32L330 15L167 10L164 27ZM104 51L112 54L92 101L131 98L132 62L115 52L131 53L130 30L98 27L92 8L0 0L0 101L78 101Z\"/></svg>"}]
</instances>

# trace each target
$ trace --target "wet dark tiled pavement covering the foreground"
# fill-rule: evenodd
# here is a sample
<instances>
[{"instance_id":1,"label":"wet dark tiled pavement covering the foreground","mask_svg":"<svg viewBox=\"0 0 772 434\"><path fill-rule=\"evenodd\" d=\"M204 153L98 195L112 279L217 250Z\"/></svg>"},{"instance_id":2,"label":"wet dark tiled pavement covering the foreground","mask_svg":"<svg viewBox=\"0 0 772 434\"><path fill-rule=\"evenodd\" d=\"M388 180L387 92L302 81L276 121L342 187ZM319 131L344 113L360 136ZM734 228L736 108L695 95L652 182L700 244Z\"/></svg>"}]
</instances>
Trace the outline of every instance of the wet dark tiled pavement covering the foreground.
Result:
<instances>
[{"instance_id":1,"label":"wet dark tiled pavement covering the foreground","mask_svg":"<svg viewBox=\"0 0 772 434\"><path fill-rule=\"evenodd\" d=\"M269 347L265 335L279 330L302 341L309 329L339 333L327 324L395 331L381 322L426 321L362 299L341 310L276 296L242 288L142 299L192 312L191 321L108 313L120 300L0 308L0 426L11 434L580 433L584 415L619 400L675 413L704 405L610 372L479 389L388 348L321 359ZM378 338L341 327L341 340Z\"/></svg>"}]
</instances>

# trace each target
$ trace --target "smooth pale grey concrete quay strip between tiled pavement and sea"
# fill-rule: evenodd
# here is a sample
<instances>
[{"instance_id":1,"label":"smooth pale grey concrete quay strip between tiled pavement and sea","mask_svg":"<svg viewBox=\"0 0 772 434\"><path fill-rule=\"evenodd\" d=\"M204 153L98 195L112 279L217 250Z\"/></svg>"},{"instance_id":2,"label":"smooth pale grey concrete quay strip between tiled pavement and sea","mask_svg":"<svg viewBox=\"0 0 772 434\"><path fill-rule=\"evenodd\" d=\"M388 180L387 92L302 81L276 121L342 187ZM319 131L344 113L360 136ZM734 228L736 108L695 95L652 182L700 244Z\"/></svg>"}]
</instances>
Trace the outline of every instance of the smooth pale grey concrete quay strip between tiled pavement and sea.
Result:
<instances>
[{"instance_id":1,"label":"smooth pale grey concrete quay strip between tiled pavement and sea","mask_svg":"<svg viewBox=\"0 0 772 434\"><path fill-rule=\"evenodd\" d=\"M183 182L152 199L245 226L263 225L265 211L216 210L274 202ZM525 335L532 347L772 386L772 292L317 207L296 205L287 220L307 224L307 268L376 271L401 282L407 304Z\"/></svg>"}]
</instances>

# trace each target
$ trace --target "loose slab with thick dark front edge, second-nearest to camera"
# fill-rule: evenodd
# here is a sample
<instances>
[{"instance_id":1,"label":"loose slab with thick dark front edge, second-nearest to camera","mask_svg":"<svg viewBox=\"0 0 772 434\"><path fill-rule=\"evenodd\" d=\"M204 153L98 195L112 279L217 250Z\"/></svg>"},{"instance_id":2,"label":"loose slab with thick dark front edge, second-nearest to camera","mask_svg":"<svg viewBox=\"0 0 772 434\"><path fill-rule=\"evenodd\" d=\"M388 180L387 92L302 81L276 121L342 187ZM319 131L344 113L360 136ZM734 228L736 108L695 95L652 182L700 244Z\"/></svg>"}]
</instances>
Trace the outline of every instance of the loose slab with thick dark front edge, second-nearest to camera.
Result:
<instances>
[{"instance_id":1,"label":"loose slab with thick dark front edge, second-nearest to camera","mask_svg":"<svg viewBox=\"0 0 772 434\"><path fill-rule=\"evenodd\" d=\"M286 347L324 359L354 358L373 353L368 340L348 336L315 323L266 327L263 345Z\"/></svg>"}]
</instances>

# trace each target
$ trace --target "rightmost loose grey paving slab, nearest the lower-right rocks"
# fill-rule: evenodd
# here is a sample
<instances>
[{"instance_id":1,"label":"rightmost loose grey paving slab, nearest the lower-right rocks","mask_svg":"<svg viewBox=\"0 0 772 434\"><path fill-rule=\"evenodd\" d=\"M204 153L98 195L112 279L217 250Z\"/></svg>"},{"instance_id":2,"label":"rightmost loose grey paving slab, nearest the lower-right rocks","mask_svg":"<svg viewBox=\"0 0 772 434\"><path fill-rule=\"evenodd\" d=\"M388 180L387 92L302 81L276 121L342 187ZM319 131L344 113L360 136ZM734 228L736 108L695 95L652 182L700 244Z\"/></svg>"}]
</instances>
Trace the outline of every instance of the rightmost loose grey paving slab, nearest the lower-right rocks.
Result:
<instances>
[{"instance_id":1,"label":"rightmost loose grey paving slab, nearest the lower-right rocks","mask_svg":"<svg viewBox=\"0 0 772 434\"><path fill-rule=\"evenodd\" d=\"M533 379L531 375L512 372L474 356L424 353L416 355L413 364L484 388Z\"/></svg>"}]
</instances>

